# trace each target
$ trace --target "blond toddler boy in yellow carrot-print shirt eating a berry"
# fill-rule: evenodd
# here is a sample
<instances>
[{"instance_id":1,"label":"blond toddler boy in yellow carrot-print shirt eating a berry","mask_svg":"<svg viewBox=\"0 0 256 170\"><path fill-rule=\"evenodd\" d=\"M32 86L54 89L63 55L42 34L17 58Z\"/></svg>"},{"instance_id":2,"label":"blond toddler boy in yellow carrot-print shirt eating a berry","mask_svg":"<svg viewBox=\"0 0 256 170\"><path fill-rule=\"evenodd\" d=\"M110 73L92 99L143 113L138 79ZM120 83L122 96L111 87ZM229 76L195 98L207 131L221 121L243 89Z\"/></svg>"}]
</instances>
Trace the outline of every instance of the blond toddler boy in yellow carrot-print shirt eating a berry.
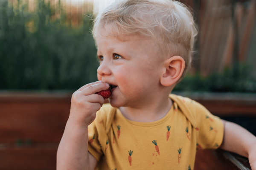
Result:
<instances>
[{"instance_id":1,"label":"blond toddler boy in yellow carrot-print shirt eating a berry","mask_svg":"<svg viewBox=\"0 0 256 170\"><path fill-rule=\"evenodd\" d=\"M170 94L190 67L196 34L177 1L122 0L101 11L93 27L100 81L72 96L57 169L192 170L197 149L221 147L249 156L256 170L255 136ZM95 93L110 87L104 104Z\"/></svg>"}]
</instances>

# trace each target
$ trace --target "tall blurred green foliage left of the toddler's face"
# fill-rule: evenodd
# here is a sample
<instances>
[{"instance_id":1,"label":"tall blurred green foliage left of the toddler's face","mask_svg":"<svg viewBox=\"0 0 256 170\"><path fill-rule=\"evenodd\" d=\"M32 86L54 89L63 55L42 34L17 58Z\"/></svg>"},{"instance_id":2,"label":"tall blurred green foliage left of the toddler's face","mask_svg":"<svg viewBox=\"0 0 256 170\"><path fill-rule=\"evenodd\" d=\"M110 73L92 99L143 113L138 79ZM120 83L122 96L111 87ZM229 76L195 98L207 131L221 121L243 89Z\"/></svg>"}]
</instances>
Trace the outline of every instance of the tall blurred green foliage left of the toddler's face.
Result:
<instances>
[{"instance_id":1,"label":"tall blurred green foliage left of the toddler's face","mask_svg":"<svg viewBox=\"0 0 256 170\"><path fill-rule=\"evenodd\" d=\"M78 89L96 81L91 18L73 29L60 5L37 3L28 12L21 1L17 8L0 1L0 89ZM61 17L50 20L56 11Z\"/></svg>"}]
</instances>

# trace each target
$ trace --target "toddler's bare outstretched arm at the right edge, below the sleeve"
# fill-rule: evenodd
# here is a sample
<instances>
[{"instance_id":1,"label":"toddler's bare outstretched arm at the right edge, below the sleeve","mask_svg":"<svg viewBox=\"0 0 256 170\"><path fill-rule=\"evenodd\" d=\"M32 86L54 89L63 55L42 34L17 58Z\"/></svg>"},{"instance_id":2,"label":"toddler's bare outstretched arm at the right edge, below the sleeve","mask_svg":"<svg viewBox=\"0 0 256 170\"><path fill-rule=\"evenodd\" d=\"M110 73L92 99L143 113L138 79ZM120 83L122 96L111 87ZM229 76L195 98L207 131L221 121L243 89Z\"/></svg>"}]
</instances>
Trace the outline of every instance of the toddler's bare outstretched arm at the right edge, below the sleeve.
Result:
<instances>
[{"instance_id":1,"label":"toddler's bare outstretched arm at the right edge, below the sleeve","mask_svg":"<svg viewBox=\"0 0 256 170\"><path fill-rule=\"evenodd\" d=\"M256 137L235 123L222 122L224 138L220 148L247 157L252 170L256 170Z\"/></svg>"}]
</instances>

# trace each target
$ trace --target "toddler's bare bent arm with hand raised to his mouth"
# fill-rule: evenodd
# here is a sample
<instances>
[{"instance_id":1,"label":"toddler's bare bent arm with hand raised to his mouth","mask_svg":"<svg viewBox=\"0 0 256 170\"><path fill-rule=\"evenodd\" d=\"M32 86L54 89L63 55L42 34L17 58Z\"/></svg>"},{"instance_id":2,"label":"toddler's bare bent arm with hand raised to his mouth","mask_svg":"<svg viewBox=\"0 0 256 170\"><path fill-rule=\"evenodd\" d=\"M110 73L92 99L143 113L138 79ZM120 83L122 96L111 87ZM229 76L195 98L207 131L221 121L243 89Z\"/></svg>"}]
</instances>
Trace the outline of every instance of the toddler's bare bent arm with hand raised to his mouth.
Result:
<instances>
[{"instance_id":1,"label":"toddler's bare bent arm with hand raised to his mouth","mask_svg":"<svg viewBox=\"0 0 256 170\"><path fill-rule=\"evenodd\" d=\"M88 153L88 125L104 103L95 94L107 90L108 84L94 82L84 85L71 99L70 116L57 151L57 170L94 170L96 159Z\"/></svg>"}]
</instances>

